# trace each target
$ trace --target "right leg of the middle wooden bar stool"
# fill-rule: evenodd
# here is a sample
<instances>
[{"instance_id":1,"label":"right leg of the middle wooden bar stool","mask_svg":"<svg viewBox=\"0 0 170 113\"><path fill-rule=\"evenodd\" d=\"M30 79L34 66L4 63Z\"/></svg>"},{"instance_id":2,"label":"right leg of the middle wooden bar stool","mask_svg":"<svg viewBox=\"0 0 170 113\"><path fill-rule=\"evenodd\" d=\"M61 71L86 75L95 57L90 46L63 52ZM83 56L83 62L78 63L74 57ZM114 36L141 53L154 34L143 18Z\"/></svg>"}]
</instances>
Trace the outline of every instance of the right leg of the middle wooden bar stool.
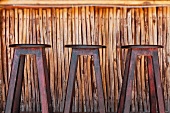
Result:
<instances>
[{"instance_id":1,"label":"right leg of the middle wooden bar stool","mask_svg":"<svg viewBox=\"0 0 170 113\"><path fill-rule=\"evenodd\" d=\"M94 68L96 73L97 91L99 99L99 111L100 113L105 113L104 96L103 96L103 86L102 86L102 75L100 70L100 60L99 60L99 50L94 51Z\"/></svg>"}]
</instances>

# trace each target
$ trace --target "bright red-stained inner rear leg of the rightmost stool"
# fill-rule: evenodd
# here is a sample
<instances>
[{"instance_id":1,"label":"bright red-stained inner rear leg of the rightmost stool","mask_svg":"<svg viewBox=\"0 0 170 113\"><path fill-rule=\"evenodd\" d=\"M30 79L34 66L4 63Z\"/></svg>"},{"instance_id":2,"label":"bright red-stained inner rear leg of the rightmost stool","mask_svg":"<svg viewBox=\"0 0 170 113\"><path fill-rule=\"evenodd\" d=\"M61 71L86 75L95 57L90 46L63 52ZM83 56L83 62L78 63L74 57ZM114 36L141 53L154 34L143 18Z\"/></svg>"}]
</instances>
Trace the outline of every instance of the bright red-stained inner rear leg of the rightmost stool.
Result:
<instances>
[{"instance_id":1,"label":"bright red-stained inner rear leg of the rightmost stool","mask_svg":"<svg viewBox=\"0 0 170 113\"><path fill-rule=\"evenodd\" d=\"M156 91L155 91L155 78L153 72L152 57L148 56L148 78L149 78L149 96L150 96L150 111L156 113Z\"/></svg>"}]
</instances>

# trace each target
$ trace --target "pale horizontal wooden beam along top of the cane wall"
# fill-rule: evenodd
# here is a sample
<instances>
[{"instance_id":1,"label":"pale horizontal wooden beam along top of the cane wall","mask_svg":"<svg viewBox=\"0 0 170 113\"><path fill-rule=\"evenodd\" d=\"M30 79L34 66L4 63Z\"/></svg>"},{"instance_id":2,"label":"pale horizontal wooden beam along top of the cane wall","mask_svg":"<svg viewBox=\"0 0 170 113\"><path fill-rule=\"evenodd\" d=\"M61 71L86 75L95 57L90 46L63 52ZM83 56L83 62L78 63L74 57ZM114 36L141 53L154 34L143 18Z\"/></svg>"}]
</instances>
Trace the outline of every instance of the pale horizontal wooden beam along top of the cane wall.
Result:
<instances>
[{"instance_id":1,"label":"pale horizontal wooden beam along top of the cane wall","mask_svg":"<svg viewBox=\"0 0 170 113\"><path fill-rule=\"evenodd\" d=\"M170 0L2 0L0 7L150 7L170 6Z\"/></svg>"}]
</instances>

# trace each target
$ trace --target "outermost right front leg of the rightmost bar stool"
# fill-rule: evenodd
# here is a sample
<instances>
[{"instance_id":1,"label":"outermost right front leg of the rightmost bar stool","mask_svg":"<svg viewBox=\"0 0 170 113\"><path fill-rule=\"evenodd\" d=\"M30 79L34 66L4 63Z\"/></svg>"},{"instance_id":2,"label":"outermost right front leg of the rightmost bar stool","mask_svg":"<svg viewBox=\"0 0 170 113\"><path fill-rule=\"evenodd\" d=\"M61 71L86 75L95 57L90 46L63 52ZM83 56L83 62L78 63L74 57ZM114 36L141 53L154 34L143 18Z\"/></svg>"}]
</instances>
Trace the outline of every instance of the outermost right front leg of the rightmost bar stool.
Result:
<instances>
[{"instance_id":1,"label":"outermost right front leg of the rightmost bar stool","mask_svg":"<svg viewBox=\"0 0 170 113\"><path fill-rule=\"evenodd\" d=\"M155 83L156 83L155 85L157 91L157 102L158 102L159 113L165 113L162 87L161 87L158 51L153 52L153 69L155 72Z\"/></svg>"}]
</instances>

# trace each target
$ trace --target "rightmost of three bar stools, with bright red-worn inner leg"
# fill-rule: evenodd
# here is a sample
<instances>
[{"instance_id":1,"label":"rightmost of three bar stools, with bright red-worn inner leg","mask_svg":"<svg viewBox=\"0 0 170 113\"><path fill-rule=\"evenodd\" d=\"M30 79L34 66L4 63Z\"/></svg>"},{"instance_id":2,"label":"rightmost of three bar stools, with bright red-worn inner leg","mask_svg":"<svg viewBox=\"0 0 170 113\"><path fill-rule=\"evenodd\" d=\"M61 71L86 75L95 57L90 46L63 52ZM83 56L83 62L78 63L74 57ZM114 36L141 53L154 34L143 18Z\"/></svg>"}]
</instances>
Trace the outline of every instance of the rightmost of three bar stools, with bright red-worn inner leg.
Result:
<instances>
[{"instance_id":1,"label":"rightmost of three bar stools, with bright red-worn inner leg","mask_svg":"<svg viewBox=\"0 0 170 113\"><path fill-rule=\"evenodd\" d=\"M129 113L132 98L132 83L134 79L135 62L138 55L147 56L148 59L148 78L150 93L150 109L151 113L156 113L156 102L159 113L165 113L159 61L158 48L160 45L129 45L121 48L128 49L126 58L126 66L124 71L122 91L120 95L118 113Z\"/></svg>"}]
</instances>

